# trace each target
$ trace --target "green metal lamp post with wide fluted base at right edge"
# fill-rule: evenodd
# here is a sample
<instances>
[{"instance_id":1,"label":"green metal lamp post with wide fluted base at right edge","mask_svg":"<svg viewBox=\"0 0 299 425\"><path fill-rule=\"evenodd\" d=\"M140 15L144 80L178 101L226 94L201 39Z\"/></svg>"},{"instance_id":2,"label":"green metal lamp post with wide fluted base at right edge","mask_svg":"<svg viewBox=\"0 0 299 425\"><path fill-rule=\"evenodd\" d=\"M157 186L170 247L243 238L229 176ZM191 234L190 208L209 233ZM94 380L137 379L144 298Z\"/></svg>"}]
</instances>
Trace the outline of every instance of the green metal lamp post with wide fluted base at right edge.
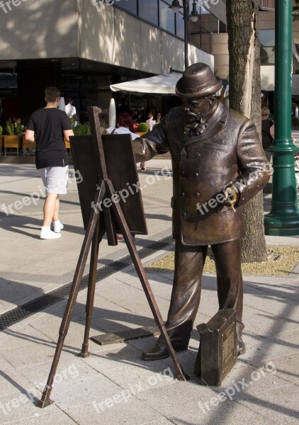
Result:
<instances>
[{"instance_id":1,"label":"green metal lamp post with wide fluted base at right edge","mask_svg":"<svg viewBox=\"0 0 299 425\"><path fill-rule=\"evenodd\" d=\"M265 233L299 234L299 209L291 139L292 0L275 2L275 138L268 149L273 155L272 204L265 216Z\"/></svg>"}]
</instances>

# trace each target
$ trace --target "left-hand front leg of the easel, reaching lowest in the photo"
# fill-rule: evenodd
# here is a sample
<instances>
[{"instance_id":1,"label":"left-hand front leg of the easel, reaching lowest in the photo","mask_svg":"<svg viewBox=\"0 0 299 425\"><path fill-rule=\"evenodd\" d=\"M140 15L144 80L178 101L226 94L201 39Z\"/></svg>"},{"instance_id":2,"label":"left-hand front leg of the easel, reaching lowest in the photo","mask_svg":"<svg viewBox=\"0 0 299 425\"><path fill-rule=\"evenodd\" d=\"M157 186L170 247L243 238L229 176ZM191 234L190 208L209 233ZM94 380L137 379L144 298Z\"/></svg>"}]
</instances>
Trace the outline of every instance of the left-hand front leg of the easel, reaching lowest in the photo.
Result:
<instances>
[{"instance_id":1,"label":"left-hand front leg of the easel, reaching lowest in the photo","mask_svg":"<svg viewBox=\"0 0 299 425\"><path fill-rule=\"evenodd\" d=\"M96 193L96 197L94 198L95 205L103 200L103 196L105 194L106 188L105 183L102 181L101 186L98 186L98 192ZM89 249L91 246L91 239L94 237L95 229L97 228L99 214L95 209L94 212L91 213L89 218L89 224L86 229L84 242L81 247L79 260L77 263L76 271L74 273L74 279L72 283L72 288L69 293L69 298L67 300L67 306L65 307L64 314L62 317L62 323L60 326L60 336L57 341L55 356L52 361L52 366L50 369L49 377L47 378L47 385L45 386L45 390L43 392L42 398L38 404L38 407L46 407L50 404L50 394L52 391L52 384L55 377L55 373L57 370L57 365L60 360L60 354L62 352L62 347L64 344L65 336L67 336L67 331L69 329L69 323L72 319L72 312L74 310L74 305L77 300L77 296L79 293L80 282L84 273L84 267L86 265L87 256L89 254Z\"/></svg>"}]
</instances>

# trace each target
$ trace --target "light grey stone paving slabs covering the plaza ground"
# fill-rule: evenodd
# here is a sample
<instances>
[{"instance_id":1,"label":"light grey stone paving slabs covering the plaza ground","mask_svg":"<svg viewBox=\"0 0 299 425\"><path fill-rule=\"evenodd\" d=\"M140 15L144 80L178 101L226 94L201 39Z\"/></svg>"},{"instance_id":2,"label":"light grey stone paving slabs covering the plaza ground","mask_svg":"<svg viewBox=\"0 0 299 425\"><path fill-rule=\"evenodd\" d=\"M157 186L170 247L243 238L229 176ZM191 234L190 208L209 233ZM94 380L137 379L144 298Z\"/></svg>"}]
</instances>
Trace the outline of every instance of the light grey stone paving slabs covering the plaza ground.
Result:
<instances>
[{"instance_id":1,"label":"light grey stone paving slabs covering the plaza ground","mask_svg":"<svg viewBox=\"0 0 299 425\"><path fill-rule=\"evenodd\" d=\"M147 173L140 173L140 186L149 232L136 237L137 249L171 235L171 178L165 171L171 163L157 159L147 165ZM161 171L157 174L161 169L164 176ZM41 241L43 186L35 166L1 164L0 314L72 281L84 229L74 174L69 181L69 193L61 203L62 237ZM271 194L264 198L268 210ZM266 242L295 249L299 238L266 237ZM142 263L146 265L171 249L169 242ZM98 267L127 255L123 242L111 247L103 240ZM80 358L84 289L79 292L64 341L52 404L40 409L37 403L50 372L67 300L26 317L0 332L0 424L299 424L298 272L296 266L286 277L244 276L247 352L221 387L205 387L193 375L199 342L196 329L188 351L178 355L191 377L186 382L175 379L169 358L141 360L142 350L153 344L154 337L106 346L90 341L90 356ZM165 319L172 273L147 276ZM207 274L196 324L207 322L217 309L215 276ZM132 264L98 281L91 336L149 325L154 325L154 319Z\"/></svg>"}]
</instances>

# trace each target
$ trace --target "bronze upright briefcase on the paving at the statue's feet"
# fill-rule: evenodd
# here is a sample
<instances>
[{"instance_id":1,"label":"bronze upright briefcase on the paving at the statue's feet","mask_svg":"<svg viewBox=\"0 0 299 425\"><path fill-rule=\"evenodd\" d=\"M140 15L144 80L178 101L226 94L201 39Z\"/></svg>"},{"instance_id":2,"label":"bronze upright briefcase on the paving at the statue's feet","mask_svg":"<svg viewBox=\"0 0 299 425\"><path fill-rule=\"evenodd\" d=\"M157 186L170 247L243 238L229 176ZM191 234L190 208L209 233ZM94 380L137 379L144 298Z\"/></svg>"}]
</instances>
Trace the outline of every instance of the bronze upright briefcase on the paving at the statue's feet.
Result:
<instances>
[{"instance_id":1,"label":"bronze upright briefcase on the paving at the statue's feet","mask_svg":"<svg viewBox=\"0 0 299 425\"><path fill-rule=\"evenodd\" d=\"M219 310L208 323L197 326L201 345L196 362L206 385L221 385L237 362L236 314Z\"/></svg>"}]
</instances>

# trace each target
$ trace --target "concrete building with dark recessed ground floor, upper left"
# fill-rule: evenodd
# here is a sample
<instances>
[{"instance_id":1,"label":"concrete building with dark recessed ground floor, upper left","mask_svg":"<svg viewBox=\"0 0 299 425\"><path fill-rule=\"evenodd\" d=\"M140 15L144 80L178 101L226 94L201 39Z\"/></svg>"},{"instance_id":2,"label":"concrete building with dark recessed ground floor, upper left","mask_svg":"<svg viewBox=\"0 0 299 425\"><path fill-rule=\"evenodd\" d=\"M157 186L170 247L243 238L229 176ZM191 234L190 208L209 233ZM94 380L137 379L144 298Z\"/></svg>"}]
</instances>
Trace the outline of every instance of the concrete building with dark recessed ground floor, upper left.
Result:
<instances>
[{"instance_id":1,"label":"concrete building with dark recessed ground floor, upper left","mask_svg":"<svg viewBox=\"0 0 299 425\"><path fill-rule=\"evenodd\" d=\"M26 121L33 110L43 107L45 86L62 88L64 96L72 97L77 111L84 114L88 106L108 108L110 84L167 74L170 68L183 70L184 41L176 18L181 15L171 11L170 1L157 1L157 8L153 3L0 2L2 124L9 116ZM147 8L141 8L142 4ZM191 63L213 67L210 53L190 45L189 55ZM144 103L136 102L141 107Z\"/></svg>"}]
</instances>

